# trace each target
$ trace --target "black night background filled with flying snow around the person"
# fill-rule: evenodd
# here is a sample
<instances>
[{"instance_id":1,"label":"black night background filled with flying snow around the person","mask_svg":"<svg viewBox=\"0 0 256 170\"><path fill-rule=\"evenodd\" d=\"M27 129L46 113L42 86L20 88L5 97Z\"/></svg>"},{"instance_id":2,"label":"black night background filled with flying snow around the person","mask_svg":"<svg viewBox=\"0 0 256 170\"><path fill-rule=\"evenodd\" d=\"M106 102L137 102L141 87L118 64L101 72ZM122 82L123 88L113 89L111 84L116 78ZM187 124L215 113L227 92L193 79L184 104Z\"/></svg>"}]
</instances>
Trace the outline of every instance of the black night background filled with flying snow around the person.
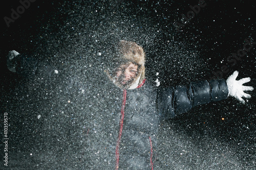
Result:
<instances>
[{"instance_id":1,"label":"black night background filled with flying snow around the person","mask_svg":"<svg viewBox=\"0 0 256 170\"><path fill-rule=\"evenodd\" d=\"M7 23L11 9L21 5L1 1L0 169L86 169L83 139L107 109L104 56L113 36L143 46L148 81L158 78L162 86L174 86L214 76L227 79L238 70L238 79L250 77L245 85L254 87L245 104L228 98L163 122L156 169L255 169L255 1L205 0L184 23L182 14L197 0L37 0ZM246 39L253 47L241 59L228 60ZM59 74L44 79L17 75L6 65L11 50L54 65Z\"/></svg>"}]
</instances>

